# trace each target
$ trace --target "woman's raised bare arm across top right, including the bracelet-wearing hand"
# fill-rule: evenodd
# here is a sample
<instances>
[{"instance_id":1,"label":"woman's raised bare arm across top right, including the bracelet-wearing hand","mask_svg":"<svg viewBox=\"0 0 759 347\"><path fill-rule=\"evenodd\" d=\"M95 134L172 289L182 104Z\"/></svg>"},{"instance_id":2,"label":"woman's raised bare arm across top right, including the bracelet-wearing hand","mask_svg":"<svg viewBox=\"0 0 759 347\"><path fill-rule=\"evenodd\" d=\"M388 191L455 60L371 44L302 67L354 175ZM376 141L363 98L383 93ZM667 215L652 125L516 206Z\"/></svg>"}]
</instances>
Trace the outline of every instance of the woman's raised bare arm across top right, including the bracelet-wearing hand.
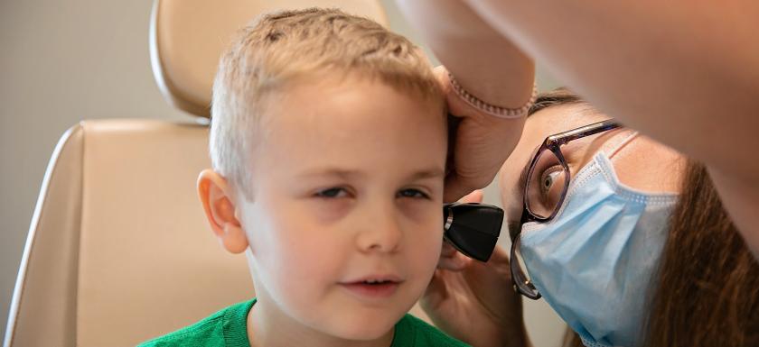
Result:
<instances>
[{"instance_id":1,"label":"woman's raised bare arm across top right, including the bracelet-wearing hand","mask_svg":"<svg viewBox=\"0 0 759 347\"><path fill-rule=\"evenodd\" d=\"M703 162L759 254L759 2L398 5L458 85L485 104L525 105L534 57L607 114ZM519 139L523 118L495 121L455 105L451 111L464 118L446 187L455 199L489 182Z\"/></svg>"}]
</instances>

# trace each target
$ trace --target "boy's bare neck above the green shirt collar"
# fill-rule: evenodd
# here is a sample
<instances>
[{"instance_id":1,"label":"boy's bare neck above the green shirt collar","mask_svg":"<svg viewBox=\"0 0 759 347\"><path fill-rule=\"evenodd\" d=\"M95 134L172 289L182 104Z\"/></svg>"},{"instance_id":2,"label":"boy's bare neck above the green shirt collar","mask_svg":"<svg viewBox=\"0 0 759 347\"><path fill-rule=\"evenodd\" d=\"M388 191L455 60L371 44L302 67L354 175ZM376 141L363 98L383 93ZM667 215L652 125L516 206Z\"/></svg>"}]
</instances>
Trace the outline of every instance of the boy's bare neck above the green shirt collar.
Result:
<instances>
[{"instance_id":1,"label":"boy's bare neck above the green shirt collar","mask_svg":"<svg viewBox=\"0 0 759 347\"><path fill-rule=\"evenodd\" d=\"M262 300L262 297L258 297L250 308L246 322L251 347L297 346L304 345L304 342L310 347L389 347L395 333L395 329L391 329L371 341L345 340L296 322L271 300Z\"/></svg>"}]
</instances>

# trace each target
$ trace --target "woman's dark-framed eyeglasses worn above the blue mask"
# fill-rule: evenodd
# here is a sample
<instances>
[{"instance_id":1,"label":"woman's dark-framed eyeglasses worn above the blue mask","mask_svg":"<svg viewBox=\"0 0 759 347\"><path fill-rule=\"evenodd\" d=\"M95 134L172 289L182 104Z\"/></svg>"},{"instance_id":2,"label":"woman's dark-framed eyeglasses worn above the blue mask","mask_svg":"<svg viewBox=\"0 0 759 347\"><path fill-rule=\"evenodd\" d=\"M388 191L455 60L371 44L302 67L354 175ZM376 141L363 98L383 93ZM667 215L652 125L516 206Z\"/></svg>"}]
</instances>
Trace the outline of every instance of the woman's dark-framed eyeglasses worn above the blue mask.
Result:
<instances>
[{"instance_id":1,"label":"woman's dark-framed eyeglasses worn above the blue mask","mask_svg":"<svg viewBox=\"0 0 759 347\"><path fill-rule=\"evenodd\" d=\"M571 176L567 160L561 154L561 146L621 126L614 120L607 120L548 136L530 161L526 175L520 178L520 184L524 184L524 209L522 210L520 227L510 228L511 280L514 282L514 289L521 295L533 300L540 298L538 288L535 288L529 280L521 264L521 225L529 222L546 223L550 221L557 215L561 204L564 203Z\"/></svg>"}]
</instances>

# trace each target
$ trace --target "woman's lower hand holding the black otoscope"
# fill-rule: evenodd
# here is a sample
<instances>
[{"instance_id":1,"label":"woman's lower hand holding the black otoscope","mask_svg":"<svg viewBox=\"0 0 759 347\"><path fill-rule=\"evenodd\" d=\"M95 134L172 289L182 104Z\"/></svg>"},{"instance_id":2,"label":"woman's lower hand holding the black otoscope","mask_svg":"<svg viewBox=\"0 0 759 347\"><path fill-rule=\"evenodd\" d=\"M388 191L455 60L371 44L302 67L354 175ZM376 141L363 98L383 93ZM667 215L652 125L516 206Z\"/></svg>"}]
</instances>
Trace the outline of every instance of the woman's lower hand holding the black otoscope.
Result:
<instances>
[{"instance_id":1,"label":"woman's lower hand holding the black otoscope","mask_svg":"<svg viewBox=\"0 0 759 347\"><path fill-rule=\"evenodd\" d=\"M481 202L475 191L461 200ZM445 243L435 276L420 300L437 327L473 346L527 346L521 297L513 290L509 258L496 247L487 263Z\"/></svg>"}]
</instances>

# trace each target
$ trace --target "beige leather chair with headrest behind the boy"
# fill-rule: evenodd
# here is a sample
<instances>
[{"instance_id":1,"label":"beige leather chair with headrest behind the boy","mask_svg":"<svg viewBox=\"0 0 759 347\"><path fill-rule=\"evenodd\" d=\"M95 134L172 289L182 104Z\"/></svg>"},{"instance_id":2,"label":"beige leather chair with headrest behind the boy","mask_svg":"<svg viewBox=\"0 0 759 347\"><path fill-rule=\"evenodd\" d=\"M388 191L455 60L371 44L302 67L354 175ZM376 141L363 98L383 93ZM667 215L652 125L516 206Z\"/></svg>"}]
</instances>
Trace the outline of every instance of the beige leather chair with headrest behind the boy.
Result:
<instances>
[{"instance_id":1,"label":"beige leather chair with headrest behind the boy","mask_svg":"<svg viewBox=\"0 0 759 347\"><path fill-rule=\"evenodd\" d=\"M200 122L84 121L63 135L23 251L5 347L135 345L254 296L244 257L221 249L195 195L210 166L202 123L230 35L262 11L312 5L387 23L373 0L155 1L156 81Z\"/></svg>"}]
</instances>

